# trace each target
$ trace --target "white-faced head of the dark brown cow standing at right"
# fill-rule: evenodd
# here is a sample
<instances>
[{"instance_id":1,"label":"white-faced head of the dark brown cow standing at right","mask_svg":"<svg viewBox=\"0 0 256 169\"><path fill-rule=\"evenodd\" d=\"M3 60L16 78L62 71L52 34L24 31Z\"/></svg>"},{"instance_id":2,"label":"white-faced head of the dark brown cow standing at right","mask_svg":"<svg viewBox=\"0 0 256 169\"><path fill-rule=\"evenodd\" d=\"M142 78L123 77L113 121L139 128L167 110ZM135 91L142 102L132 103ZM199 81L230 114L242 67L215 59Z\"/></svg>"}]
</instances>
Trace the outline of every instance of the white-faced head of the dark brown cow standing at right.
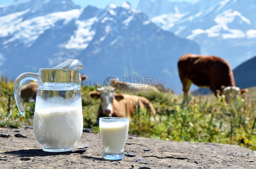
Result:
<instances>
[{"instance_id":1,"label":"white-faced head of the dark brown cow standing at right","mask_svg":"<svg viewBox=\"0 0 256 169\"><path fill-rule=\"evenodd\" d=\"M228 86L228 87L222 87L223 88L223 94L225 95L225 101L229 103L230 101L236 100L238 98L239 94L243 94L248 91L248 89L240 89L236 86Z\"/></svg>"}]
</instances>

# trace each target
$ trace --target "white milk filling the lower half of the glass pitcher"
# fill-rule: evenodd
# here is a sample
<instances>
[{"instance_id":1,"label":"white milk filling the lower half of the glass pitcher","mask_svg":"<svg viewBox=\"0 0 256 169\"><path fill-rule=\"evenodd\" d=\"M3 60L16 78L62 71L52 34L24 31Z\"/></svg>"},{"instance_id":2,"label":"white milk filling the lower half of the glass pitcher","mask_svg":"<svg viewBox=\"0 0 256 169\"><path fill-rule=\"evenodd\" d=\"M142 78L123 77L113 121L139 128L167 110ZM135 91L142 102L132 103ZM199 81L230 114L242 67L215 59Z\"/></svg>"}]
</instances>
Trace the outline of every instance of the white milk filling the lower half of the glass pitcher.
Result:
<instances>
[{"instance_id":1,"label":"white milk filling the lower half of the glass pitcher","mask_svg":"<svg viewBox=\"0 0 256 169\"><path fill-rule=\"evenodd\" d=\"M44 149L69 149L82 135L82 108L56 107L36 110L34 134Z\"/></svg>"}]
</instances>

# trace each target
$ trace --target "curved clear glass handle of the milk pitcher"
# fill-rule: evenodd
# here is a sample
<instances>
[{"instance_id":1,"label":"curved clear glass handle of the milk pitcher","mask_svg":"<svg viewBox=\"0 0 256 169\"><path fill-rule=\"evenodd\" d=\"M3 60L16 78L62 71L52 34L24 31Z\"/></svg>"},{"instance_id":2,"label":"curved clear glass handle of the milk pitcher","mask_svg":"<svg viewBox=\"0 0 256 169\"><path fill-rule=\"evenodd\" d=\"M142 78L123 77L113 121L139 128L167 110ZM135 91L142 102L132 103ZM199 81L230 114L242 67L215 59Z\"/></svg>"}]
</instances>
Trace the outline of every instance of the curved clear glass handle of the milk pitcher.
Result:
<instances>
[{"instance_id":1,"label":"curved clear glass handle of the milk pitcher","mask_svg":"<svg viewBox=\"0 0 256 169\"><path fill-rule=\"evenodd\" d=\"M14 97L16 104L18 106L18 109L20 111L21 115L25 114L25 110L21 103L21 96L20 96L20 88L24 81L26 80L36 80L38 81L39 74L38 73L23 73L17 77L14 83Z\"/></svg>"}]
</instances>

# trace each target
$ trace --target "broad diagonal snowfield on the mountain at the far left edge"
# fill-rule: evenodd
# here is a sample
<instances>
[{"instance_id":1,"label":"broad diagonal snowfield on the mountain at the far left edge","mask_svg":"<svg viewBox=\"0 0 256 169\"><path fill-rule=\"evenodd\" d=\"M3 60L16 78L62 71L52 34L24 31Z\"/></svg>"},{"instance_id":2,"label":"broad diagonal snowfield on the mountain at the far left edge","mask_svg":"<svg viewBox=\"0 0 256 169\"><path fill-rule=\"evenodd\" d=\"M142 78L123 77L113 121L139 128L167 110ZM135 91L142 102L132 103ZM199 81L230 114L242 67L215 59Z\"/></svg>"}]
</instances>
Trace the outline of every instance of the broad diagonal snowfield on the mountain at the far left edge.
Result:
<instances>
[{"instance_id":1,"label":"broad diagonal snowfield on the mountain at the far left edge","mask_svg":"<svg viewBox=\"0 0 256 169\"><path fill-rule=\"evenodd\" d=\"M46 16L34 17L30 20L23 20L22 15L26 12L17 12L0 17L0 36L12 35L10 39L2 42L2 45L7 45L8 43L18 45L17 43L23 43L24 46L30 47L45 30L54 26L58 20L64 20L63 24L65 24L73 18L77 18L81 10L56 12Z\"/></svg>"}]
</instances>

